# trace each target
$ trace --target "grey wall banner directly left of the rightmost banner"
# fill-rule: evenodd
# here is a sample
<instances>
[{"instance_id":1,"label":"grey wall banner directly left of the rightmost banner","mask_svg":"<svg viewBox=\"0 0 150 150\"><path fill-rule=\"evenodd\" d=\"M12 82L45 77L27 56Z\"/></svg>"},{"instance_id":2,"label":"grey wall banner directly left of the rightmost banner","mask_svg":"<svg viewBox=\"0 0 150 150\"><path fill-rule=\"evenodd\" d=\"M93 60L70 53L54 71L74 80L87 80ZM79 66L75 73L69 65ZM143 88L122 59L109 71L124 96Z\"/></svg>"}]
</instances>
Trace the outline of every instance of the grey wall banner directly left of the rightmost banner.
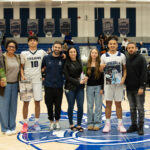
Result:
<instances>
[{"instance_id":1,"label":"grey wall banner directly left of the rightmost banner","mask_svg":"<svg viewBox=\"0 0 150 150\"><path fill-rule=\"evenodd\" d=\"M107 35L111 35L114 32L114 24L113 19L102 19L103 22L103 33Z\"/></svg>"}]
</instances>

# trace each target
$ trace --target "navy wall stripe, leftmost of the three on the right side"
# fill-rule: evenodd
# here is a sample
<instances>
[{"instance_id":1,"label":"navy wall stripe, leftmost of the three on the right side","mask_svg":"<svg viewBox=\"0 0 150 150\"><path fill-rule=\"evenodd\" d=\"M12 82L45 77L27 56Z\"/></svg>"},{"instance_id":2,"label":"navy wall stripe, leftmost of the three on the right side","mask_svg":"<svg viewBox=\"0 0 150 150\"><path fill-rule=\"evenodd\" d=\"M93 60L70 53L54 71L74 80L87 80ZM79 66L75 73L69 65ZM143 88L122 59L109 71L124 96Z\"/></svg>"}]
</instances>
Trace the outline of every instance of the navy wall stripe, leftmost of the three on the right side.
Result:
<instances>
[{"instance_id":1,"label":"navy wall stripe, leftmost of the three on the right side","mask_svg":"<svg viewBox=\"0 0 150 150\"><path fill-rule=\"evenodd\" d=\"M95 36L102 33L102 18L104 18L104 8L95 8Z\"/></svg>"}]
</instances>

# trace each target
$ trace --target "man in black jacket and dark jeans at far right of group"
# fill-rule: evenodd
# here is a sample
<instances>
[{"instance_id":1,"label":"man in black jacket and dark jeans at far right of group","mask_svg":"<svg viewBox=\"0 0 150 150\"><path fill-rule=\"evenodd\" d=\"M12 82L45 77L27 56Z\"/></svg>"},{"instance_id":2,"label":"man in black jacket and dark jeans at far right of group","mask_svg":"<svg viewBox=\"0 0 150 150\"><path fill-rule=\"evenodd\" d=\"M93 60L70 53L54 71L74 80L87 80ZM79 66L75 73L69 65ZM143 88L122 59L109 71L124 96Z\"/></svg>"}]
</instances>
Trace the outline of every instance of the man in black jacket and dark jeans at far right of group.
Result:
<instances>
[{"instance_id":1,"label":"man in black jacket and dark jeans at far right of group","mask_svg":"<svg viewBox=\"0 0 150 150\"><path fill-rule=\"evenodd\" d=\"M125 84L131 113L131 126L128 128L127 132L132 133L138 131L139 135L143 135L147 64L145 58L137 53L135 43L128 43L127 51L127 77Z\"/></svg>"}]
</instances>

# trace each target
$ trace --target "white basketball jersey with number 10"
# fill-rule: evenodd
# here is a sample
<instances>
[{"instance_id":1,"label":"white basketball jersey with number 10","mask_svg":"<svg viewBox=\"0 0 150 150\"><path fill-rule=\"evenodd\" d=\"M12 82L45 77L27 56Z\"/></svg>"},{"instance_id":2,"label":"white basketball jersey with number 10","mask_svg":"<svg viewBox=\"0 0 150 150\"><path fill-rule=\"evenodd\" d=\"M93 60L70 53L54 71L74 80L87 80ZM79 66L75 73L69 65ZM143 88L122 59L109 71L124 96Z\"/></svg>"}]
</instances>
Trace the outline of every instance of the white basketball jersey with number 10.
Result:
<instances>
[{"instance_id":1,"label":"white basketball jersey with number 10","mask_svg":"<svg viewBox=\"0 0 150 150\"><path fill-rule=\"evenodd\" d=\"M31 79L32 83L40 83L42 81L41 64L45 55L47 53L42 49L35 52L30 50L23 51L20 55L21 64L24 64L24 75L27 79Z\"/></svg>"}]
</instances>

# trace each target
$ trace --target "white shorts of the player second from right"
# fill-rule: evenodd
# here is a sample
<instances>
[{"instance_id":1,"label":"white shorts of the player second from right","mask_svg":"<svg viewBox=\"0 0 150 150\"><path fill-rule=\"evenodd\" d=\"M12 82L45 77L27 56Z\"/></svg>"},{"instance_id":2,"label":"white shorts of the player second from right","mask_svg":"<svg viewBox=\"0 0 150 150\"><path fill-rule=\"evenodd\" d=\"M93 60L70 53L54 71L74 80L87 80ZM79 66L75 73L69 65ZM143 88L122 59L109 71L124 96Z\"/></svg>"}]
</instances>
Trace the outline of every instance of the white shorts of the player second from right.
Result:
<instances>
[{"instance_id":1,"label":"white shorts of the player second from right","mask_svg":"<svg viewBox=\"0 0 150 150\"><path fill-rule=\"evenodd\" d=\"M124 85L110 84L104 85L104 100L106 101L123 101Z\"/></svg>"}]
</instances>

